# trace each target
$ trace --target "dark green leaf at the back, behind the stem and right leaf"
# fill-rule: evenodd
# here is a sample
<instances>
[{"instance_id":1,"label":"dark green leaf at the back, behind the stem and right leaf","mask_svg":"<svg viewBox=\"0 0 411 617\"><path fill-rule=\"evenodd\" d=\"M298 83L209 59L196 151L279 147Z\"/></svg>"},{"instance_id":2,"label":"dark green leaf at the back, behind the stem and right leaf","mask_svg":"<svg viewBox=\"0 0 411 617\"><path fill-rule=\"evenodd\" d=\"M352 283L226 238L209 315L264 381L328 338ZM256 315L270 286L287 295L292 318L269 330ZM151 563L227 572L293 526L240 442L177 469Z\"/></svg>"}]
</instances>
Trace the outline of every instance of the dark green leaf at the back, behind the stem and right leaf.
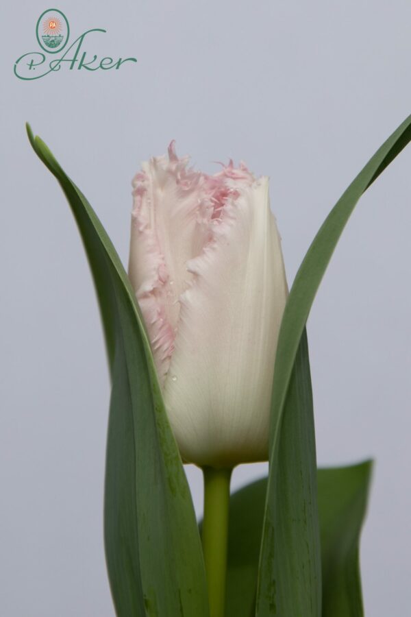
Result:
<instances>
[{"instance_id":1,"label":"dark green leaf at the back, behind the stem and right leaf","mask_svg":"<svg viewBox=\"0 0 411 617\"><path fill-rule=\"evenodd\" d=\"M322 617L363 615L358 555L370 475L370 461L318 470ZM264 478L230 499L227 617L254 615L266 488Z\"/></svg>"}]
</instances>

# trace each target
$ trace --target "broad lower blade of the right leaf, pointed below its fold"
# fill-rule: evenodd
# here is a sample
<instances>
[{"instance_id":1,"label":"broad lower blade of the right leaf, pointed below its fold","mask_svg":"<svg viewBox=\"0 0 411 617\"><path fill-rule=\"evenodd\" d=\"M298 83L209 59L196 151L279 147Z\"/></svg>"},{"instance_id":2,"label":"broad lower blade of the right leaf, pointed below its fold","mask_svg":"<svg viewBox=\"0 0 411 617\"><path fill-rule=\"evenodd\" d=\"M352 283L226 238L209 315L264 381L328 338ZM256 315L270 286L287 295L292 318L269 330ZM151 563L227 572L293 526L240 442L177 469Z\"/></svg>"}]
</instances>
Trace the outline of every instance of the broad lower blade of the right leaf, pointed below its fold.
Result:
<instances>
[{"instance_id":1,"label":"broad lower blade of the right leaf, pointed below its fold","mask_svg":"<svg viewBox=\"0 0 411 617\"><path fill-rule=\"evenodd\" d=\"M292 370L281 433L277 435L270 461L256 612L264 617L319 617L321 555L305 331Z\"/></svg>"}]
</instances>

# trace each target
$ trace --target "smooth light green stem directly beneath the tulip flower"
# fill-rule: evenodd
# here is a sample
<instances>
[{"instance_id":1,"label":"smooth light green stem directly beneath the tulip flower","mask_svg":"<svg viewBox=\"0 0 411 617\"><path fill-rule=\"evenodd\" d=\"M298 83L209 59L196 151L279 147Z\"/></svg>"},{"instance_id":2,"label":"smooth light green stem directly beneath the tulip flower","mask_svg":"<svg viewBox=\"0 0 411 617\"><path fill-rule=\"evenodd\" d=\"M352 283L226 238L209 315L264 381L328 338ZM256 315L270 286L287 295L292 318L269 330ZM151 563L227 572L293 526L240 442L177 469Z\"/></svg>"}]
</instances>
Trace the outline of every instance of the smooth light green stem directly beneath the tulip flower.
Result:
<instances>
[{"instance_id":1,"label":"smooth light green stem directly beneath the tulip flower","mask_svg":"<svg viewBox=\"0 0 411 617\"><path fill-rule=\"evenodd\" d=\"M224 617L229 481L231 469L203 468L203 553L206 564L210 617Z\"/></svg>"}]
</instances>

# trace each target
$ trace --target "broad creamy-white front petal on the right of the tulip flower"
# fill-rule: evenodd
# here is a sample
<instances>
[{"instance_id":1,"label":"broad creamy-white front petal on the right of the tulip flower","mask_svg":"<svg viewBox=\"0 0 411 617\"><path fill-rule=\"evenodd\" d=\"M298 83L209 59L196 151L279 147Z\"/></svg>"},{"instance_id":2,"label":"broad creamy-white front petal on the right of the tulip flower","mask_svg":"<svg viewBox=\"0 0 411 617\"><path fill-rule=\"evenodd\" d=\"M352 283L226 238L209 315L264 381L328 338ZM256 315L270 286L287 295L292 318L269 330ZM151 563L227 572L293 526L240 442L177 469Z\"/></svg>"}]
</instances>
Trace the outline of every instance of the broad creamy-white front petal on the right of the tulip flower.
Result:
<instances>
[{"instance_id":1,"label":"broad creamy-white front petal on the right of the tulip flower","mask_svg":"<svg viewBox=\"0 0 411 617\"><path fill-rule=\"evenodd\" d=\"M287 286L268 179L225 204L188 264L164 400L182 457L266 460L277 335Z\"/></svg>"}]
</instances>

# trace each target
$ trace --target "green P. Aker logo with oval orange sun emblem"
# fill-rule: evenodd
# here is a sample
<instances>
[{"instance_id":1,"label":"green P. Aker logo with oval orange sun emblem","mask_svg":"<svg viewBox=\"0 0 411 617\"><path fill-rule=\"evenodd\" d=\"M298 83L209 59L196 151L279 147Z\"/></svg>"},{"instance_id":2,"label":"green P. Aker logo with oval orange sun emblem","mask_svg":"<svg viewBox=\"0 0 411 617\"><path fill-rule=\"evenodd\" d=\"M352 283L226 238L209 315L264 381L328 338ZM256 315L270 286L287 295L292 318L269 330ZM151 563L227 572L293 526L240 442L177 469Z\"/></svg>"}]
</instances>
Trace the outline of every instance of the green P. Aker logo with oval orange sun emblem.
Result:
<instances>
[{"instance_id":1,"label":"green P. Aker logo with oval orange sun emblem","mask_svg":"<svg viewBox=\"0 0 411 617\"><path fill-rule=\"evenodd\" d=\"M23 53L23 56L14 62L14 75L19 80L32 81L51 73L58 73L62 68L66 71L90 72L110 71L110 69L118 71L125 62L137 62L137 58L114 59L112 56L99 58L97 53L89 54L83 50L86 38L90 49L92 37L106 32L107 30L103 28L91 28L68 45L70 38L68 19L58 9L47 9L42 12L36 24L36 39L42 51Z\"/></svg>"}]
</instances>

